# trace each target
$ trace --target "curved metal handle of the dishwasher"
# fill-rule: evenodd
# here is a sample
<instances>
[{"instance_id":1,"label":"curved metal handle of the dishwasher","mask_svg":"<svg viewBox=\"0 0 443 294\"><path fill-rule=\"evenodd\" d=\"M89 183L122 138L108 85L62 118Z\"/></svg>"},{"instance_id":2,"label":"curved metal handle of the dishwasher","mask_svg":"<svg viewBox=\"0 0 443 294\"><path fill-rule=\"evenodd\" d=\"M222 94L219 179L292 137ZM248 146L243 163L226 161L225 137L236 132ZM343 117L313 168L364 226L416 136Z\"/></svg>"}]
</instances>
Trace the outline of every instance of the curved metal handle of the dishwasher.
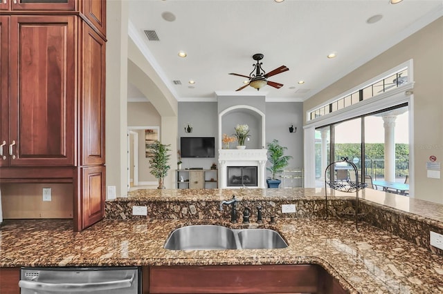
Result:
<instances>
[{"instance_id":1,"label":"curved metal handle of the dishwasher","mask_svg":"<svg viewBox=\"0 0 443 294\"><path fill-rule=\"evenodd\" d=\"M105 291L114 290L120 288L129 288L134 281L134 275L129 279L108 281L108 282L96 282L96 283L45 283L20 280L19 287L26 288L34 291L47 291L47 292L85 292L85 291Z\"/></svg>"}]
</instances>

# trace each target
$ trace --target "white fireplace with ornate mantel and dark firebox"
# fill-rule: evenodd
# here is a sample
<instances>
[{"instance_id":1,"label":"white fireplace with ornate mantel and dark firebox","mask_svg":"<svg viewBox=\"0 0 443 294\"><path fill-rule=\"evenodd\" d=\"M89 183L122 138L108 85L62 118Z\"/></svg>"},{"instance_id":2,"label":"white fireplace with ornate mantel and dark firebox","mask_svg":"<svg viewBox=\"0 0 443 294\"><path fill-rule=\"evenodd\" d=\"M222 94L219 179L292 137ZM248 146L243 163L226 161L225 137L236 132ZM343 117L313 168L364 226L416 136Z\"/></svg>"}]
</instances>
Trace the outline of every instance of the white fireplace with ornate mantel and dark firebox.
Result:
<instances>
[{"instance_id":1,"label":"white fireplace with ornate mantel and dark firebox","mask_svg":"<svg viewBox=\"0 0 443 294\"><path fill-rule=\"evenodd\" d=\"M266 149L219 149L220 188L266 188Z\"/></svg>"}]
</instances>

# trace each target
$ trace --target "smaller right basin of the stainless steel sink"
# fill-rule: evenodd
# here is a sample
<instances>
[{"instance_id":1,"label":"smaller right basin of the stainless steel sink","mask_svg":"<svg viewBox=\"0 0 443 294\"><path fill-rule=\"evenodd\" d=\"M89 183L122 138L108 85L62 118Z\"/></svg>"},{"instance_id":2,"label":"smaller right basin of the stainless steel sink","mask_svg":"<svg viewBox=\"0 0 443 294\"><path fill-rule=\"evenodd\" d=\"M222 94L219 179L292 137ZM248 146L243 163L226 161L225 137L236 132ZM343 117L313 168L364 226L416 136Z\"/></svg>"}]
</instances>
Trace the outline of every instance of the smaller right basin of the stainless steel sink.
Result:
<instances>
[{"instance_id":1,"label":"smaller right basin of the stainless steel sink","mask_svg":"<svg viewBox=\"0 0 443 294\"><path fill-rule=\"evenodd\" d=\"M242 249L286 248L282 236L267 228L248 228L237 233Z\"/></svg>"}]
</instances>

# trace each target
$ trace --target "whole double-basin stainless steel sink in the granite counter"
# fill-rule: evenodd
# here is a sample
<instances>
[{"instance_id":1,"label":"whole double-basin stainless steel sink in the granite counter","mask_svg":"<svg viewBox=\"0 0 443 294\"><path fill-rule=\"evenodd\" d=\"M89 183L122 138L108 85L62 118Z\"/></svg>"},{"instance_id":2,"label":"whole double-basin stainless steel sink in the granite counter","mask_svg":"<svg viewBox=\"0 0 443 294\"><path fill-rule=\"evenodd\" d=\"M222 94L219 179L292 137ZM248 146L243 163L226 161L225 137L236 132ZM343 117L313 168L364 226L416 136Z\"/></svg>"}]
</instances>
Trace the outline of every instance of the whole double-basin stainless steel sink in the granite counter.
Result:
<instances>
[{"instance_id":1,"label":"whole double-basin stainless steel sink in the granite counter","mask_svg":"<svg viewBox=\"0 0 443 294\"><path fill-rule=\"evenodd\" d=\"M184 226L172 231L170 250L226 250L286 248L282 236L268 228L232 229L216 225Z\"/></svg>"}]
</instances>

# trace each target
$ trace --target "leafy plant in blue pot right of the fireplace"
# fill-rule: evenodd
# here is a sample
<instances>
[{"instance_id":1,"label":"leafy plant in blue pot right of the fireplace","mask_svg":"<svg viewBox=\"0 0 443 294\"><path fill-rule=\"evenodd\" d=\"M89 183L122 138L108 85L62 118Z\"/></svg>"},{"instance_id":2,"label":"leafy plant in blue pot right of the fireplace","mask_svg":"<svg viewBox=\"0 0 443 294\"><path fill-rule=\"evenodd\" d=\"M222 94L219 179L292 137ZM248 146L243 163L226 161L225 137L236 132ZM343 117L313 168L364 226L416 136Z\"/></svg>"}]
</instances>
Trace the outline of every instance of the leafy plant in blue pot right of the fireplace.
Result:
<instances>
[{"instance_id":1,"label":"leafy plant in blue pot right of the fireplace","mask_svg":"<svg viewBox=\"0 0 443 294\"><path fill-rule=\"evenodd\" d=\"M284 155L284 150L287 150L287 147L280 146L277 139L273 139L268 144L268 162L270 165L266 167L266 170L269 170L272 174L271 179L266 179L268 188L278 188L282 182L280 179L276 179L275 175L281 173L288 166L289 159L292 158L290 155Z\"/></svg>"}]
</instances>

